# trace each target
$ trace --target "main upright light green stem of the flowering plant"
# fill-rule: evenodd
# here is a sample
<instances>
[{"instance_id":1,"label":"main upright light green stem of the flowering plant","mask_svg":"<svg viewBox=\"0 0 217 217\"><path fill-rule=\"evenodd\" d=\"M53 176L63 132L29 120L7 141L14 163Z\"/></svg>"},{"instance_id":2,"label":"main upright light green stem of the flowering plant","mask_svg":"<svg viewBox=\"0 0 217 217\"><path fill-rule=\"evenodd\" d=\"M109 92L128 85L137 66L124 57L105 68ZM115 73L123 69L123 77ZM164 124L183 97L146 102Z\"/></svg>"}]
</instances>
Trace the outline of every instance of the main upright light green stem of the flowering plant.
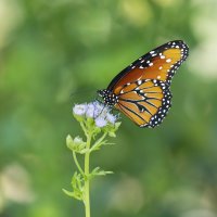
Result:
<instances>
[{"instance_id":1,"label":"main upright light green stem of the flowering plant","mask_svg":"<svg viewBox=\"0 0 217 217\"><path fill-rule=\"evenodd\" d=\"M87 136L87 149L90 149L91 135ZM90 217L90 151L85 154L85 213L86 217Z\"/></svg>"}]
</instances>

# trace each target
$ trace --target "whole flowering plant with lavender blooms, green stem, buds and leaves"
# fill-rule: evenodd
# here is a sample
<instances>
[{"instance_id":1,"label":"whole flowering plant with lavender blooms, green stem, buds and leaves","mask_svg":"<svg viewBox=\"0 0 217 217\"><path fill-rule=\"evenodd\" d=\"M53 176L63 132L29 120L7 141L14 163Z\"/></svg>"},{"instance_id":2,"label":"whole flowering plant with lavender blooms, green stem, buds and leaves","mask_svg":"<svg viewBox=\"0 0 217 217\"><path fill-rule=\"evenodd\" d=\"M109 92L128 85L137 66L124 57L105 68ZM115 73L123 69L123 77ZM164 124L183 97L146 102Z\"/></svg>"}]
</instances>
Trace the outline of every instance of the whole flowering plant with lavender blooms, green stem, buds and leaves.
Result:
<instances>
[{"instance_id":1,"label":"whole flowering plant with lavender blooms, green stem, buds and leaves","mask_svg":"<svg viewBox=\"0 0 217 217\"><path fill-rule=\"evenodd\" d=\"M98 101L76 104L73 107L73 115L80 124L85 139L79 136L73 138L68 135L66 137L66 145L73 152L77 171L72 177L72 191L65 189L63 191L68 196L82 201L86 206L86 216L90 216L90 179L112 174L112 171L103 170L100 167L91 170L90 154L99 151L103 145L113 144L108 142L107 138L116 137L120 122L117 122L117 115L113 115L110 107ZM82 165L77 155L84 156Z\"/></svg>"}]
</instances>

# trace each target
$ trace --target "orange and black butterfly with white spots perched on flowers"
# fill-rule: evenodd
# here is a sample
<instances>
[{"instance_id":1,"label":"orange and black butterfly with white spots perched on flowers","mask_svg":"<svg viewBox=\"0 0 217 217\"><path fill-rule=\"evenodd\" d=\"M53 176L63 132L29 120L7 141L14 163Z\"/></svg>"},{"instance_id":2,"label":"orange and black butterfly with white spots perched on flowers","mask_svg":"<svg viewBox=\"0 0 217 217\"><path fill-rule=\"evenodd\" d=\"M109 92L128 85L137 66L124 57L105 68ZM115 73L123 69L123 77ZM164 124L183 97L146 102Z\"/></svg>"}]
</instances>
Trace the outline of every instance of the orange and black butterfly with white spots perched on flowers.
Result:
<instances>
[{"instance_id":1,"label":"orange and black butterfly with white spots perched on flowers","mask_svg":"<svg viewBox=\"0 0 217 217\"><path fill-rule=\"evenodd\" d=\"M188 55L182 40L162 44L123 69L98 94L138 126L154 128L171 106L171 78Z\"/></svg>"}]
</instances>

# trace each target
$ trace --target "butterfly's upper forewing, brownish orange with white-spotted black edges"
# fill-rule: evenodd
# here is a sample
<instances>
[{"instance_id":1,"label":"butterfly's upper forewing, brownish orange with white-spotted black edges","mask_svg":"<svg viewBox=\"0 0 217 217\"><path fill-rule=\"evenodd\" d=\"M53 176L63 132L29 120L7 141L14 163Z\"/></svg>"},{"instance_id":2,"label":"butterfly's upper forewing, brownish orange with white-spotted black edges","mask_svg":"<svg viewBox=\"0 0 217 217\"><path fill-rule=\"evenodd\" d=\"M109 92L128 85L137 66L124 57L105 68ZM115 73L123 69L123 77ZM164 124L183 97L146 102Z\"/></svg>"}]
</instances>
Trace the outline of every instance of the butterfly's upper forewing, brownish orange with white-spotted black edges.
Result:
<instances>
[{"instance_id":1,"label":"butterfly's upper forewing, brownish orange with white-spotted black edges","mask_svg":"<svg viewBox=\"0 0 217 217\"><path fill-rule=\"evenodd\" d=\"M135 61L122 71L108 85L107 89L118 94L127 82L142 79L157 79L170 84L176 71L187 59L188 46L181 41L170 41Z\"/></svg>"}]
</instances>

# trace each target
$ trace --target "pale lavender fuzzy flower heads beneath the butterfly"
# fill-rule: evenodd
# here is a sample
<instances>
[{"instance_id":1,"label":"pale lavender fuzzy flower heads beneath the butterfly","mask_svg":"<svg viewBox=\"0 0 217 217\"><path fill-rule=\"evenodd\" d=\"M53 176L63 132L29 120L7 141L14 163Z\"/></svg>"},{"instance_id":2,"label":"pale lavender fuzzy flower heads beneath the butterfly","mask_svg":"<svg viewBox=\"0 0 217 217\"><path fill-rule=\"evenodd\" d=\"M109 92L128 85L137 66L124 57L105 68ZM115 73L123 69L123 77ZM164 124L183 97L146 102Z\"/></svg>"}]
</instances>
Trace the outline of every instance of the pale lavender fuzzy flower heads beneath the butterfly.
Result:
<instances>
[{"instance_id":1,"label":"pale lavender fuzzy flower heads beneath the butterfly","mask_svg":"<svg viewBox=\"0 0 217 217\"><path fill-rule=\"evenodd\" d=\"M94 101L91 103L76 104L73 107L74 116L81 120L81 118L91 118L99 128L107 125L114 125L117 120L117 115L111 113L111 108L106 105Z\"/></svg>"}]
</instances>

